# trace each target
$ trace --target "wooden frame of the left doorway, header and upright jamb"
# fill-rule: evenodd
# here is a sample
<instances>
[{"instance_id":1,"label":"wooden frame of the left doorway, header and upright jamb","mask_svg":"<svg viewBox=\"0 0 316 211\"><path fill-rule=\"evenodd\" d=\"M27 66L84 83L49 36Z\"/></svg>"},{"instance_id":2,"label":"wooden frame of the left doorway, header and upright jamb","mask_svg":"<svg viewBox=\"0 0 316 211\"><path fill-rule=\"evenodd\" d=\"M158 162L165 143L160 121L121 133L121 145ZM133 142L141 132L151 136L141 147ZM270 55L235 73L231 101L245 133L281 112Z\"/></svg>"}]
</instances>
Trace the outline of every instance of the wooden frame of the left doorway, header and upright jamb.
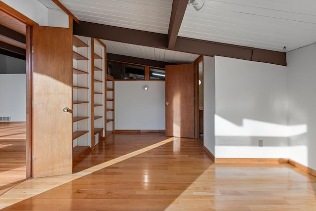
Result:
<instances>
[{"instance_id":1,"label":"wooden frame of the left doorway, header and upright jamb","mask_svg":"<svg viewBox=\"0 0 316 211\"><path fill-rule=\"evenodd\" d=\"M15 18L17 21L22 22L26 26L26 54L25 54L25 67L26 67L26 178L32 177L32 28L34 25L39 25L35 21L26 17L22 13L8 6L0 1L0 10Z\"/></svg>"}]
</instances>

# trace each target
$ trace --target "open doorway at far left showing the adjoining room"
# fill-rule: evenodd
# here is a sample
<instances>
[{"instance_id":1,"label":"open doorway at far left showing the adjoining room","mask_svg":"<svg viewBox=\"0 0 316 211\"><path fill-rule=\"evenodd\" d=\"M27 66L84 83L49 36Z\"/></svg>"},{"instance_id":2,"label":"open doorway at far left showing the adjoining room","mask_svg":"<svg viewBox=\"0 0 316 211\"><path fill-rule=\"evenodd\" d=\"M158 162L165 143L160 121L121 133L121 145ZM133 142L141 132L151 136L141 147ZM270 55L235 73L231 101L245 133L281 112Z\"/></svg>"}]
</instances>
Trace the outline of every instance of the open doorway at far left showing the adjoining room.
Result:
<instances>
[{"instance_id":1,"label":"open doorway at far left showing the adjoining room","mask_svg":"<svg viewBox=\"0 0 316 211\"><path fill-rule=\"evenodd\" d=\"M30 26L0 4L1 99L0 195L31 176ZM4 67L5 66L5 67ZM2 118L1 118L2 117Z\"/></svg>"}]
</instances>

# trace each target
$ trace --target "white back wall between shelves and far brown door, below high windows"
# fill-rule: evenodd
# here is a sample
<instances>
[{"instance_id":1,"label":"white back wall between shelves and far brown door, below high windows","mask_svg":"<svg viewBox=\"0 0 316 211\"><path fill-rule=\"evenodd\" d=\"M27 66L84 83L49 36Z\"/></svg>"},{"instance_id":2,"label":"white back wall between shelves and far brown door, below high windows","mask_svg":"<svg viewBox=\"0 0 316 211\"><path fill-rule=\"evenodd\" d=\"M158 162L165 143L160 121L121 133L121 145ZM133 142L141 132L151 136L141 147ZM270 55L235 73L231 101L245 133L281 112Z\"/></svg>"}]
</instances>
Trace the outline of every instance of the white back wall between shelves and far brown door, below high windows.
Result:
<instances>
[{"instance_id":1,"label":"white back wall between shelves and far brown door, below high windows","mask_svg":"<svg viewBox=\"0 0 316 211\"><path fill-rule=\"evenodd\" d=\"M164 130L164 102L164 82L115 82L115 129Z\"/></svg>"}]
</instances>

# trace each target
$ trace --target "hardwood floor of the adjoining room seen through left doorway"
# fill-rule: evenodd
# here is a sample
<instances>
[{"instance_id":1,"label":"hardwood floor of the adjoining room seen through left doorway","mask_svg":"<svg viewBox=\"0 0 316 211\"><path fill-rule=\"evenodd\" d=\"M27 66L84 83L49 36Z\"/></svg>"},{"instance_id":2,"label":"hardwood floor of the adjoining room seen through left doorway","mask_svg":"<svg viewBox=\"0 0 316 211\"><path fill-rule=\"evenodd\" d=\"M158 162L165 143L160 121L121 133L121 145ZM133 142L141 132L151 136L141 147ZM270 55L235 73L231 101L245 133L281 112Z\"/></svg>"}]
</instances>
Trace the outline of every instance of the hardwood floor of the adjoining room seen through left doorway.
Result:
<instances>
[{"instance_id":1,"label":"hardwood floor of the adjoining room seen through left doorway","mask_svg":"<svg viewBox=\"0 0 316 211\"><path fill-rule=\"evenodd\" d=\"M26 178L25 122L0 123L0 195Z\"/></svg>"}]
</instances>

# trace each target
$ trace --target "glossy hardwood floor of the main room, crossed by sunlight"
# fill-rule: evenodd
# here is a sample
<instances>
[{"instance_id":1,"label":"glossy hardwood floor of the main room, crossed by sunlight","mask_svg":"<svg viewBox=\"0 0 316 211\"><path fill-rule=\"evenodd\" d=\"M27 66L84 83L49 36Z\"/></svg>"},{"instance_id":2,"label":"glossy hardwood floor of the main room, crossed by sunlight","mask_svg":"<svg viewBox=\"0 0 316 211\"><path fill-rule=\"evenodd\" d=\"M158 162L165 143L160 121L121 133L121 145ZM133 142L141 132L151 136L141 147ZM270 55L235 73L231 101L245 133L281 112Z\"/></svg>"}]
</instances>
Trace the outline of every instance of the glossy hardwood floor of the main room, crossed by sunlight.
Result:
<instances>
[{"instance_id":1,"label":"glossy hardwood floor of the main room, crossed by sunlight","mask_svg":"<svg viewBox=\"0 0 316 211\"><path fill-rule=\"evenodd\" d=\"M194 139L112 135L81 160L77 170L106 162L27 180L4 199L69 182L4 210L316 210L316 177L289 164L214 164Z\"/></svg>"}]
</instances>

